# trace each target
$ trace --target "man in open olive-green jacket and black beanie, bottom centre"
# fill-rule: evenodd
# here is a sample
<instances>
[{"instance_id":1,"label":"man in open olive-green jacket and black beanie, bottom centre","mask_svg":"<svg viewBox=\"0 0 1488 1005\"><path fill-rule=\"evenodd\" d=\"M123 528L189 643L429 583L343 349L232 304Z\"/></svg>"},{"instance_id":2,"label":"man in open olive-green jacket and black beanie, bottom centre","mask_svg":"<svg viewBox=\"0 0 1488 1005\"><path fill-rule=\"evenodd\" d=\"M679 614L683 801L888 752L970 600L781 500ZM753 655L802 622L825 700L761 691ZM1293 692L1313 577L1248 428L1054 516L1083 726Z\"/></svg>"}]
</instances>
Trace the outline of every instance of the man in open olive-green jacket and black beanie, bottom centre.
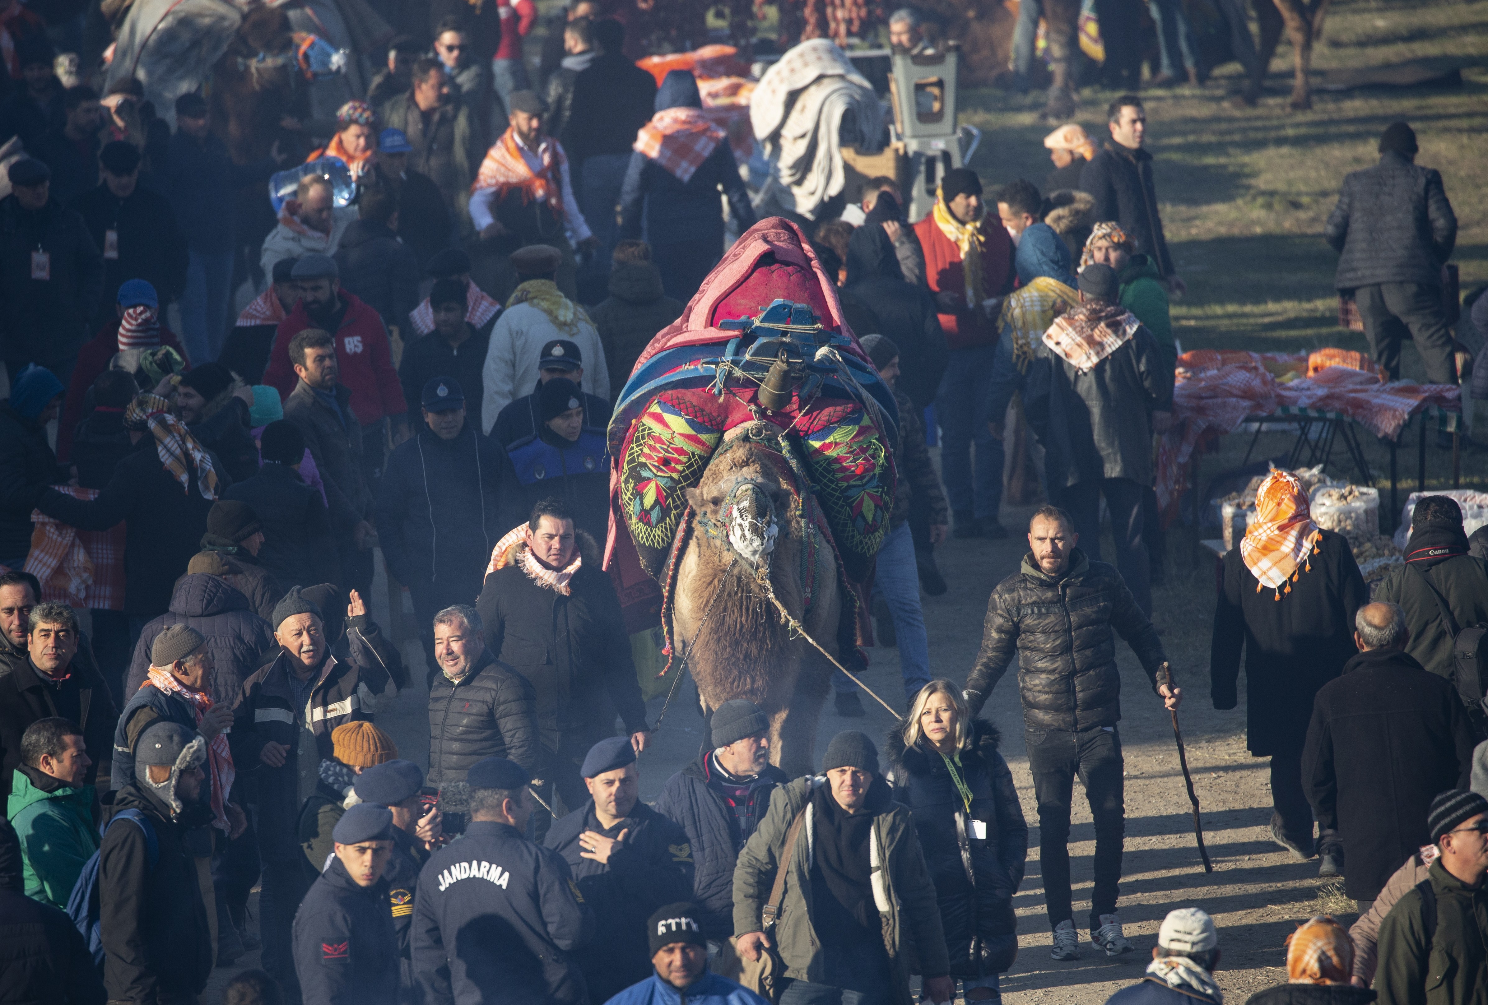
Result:
<instances>
[{"instance_id":1,"label":"man in open olive-green jacket and black beanie, bottom centre","mask_svg":"<svg viewBox=\"0 0 1488 1005\"><path fill-rule=\"evenodd\" d=\"M909 810L894 803L878 772L878 749L859 731L838 733L821 770L777 788L740 852L734 870L740 956L756 962L765 949L780 953L789 984L805 986L795 993L787 987L783 1001L817 1001L815 986L857 992L863 1005L912 1005L912 944L924 1001L949 1002L955 983L934 883ZM765 907L780 868L786 880L774 923Z\"/></svg>"}]
</instances>

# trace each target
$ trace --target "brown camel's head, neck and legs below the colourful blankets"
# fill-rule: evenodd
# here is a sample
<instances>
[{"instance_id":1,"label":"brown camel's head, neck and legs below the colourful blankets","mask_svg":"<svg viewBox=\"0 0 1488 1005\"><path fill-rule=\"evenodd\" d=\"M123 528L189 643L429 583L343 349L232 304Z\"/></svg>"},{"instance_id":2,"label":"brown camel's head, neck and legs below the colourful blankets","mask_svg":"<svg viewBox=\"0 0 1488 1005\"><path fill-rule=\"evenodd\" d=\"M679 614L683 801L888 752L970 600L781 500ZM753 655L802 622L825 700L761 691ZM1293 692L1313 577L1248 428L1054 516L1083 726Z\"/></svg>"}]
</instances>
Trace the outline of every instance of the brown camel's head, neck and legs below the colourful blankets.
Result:
<instances>
[{"instance_id":1,"label":"brown camel's head, neck and legs below the colourful blankets","mask_svg":"<svg viewBox=\"0 0 1488 1005\"><path fill-rule=\"evenodd\" d=\"M677 559L673 645L687 660L705 712L731 699L763 709L771 761L796 778L812 772L832 665L795 636L769 593L844 663L838 627L845 598L830 543L804 516L790 468L771 447L780 446L778 430L748 422L731 437L698 488L686 491L693 526ZM815 552L809 610L802 547Z\"/></svg>"}]
</instances>

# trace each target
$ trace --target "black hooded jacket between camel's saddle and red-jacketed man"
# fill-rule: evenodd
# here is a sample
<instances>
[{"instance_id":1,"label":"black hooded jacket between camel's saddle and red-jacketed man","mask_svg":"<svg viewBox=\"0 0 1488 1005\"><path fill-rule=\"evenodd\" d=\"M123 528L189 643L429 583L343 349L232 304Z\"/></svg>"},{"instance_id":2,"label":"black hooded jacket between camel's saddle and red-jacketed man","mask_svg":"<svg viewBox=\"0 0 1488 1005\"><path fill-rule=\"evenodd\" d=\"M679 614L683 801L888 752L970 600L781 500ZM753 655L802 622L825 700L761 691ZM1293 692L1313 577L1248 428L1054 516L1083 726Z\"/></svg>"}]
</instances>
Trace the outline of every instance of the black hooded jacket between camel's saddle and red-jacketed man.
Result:
<instances>
[{"instance_id":1,"label":"black hooded jacket between camel's saddle and red-jacketed man","mask_svg":"<svg viewBox=\"0 0 1488 1005\"><path fill-rule=\"evenodd\" d=\"M930 291L903 279L894 242L884 227L862 226L853 232L842 288L869 306L878 320L878 335L899 346L900 373L894 387L905 391L918 409L934 403L949 358L945 332L940 330Z\"/></svg>"}]
</instances>

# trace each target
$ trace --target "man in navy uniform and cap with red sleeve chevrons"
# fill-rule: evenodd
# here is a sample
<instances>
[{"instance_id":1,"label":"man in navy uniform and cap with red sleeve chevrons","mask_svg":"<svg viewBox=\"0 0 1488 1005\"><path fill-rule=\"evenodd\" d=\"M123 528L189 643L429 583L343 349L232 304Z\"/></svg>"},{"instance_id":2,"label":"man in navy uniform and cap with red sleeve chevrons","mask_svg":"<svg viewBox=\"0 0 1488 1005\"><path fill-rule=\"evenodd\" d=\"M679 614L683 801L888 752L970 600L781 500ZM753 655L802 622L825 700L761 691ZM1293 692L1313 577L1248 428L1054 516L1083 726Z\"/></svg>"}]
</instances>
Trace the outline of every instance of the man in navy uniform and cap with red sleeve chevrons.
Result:
<instances>
[{"instance_id":1,"label":"man in navy uniform and cap with red sleeve chevrons","mask_svg":"<svg viewBox=\"0 0 1488 1005\"><path fill-rule=\"evenodd\" d=\"M357 803L332 831L336 853L295 914L295 972L315 1005L396 1005L397 935L382 876L393 813Z\"/></svg>"}]
</instances>

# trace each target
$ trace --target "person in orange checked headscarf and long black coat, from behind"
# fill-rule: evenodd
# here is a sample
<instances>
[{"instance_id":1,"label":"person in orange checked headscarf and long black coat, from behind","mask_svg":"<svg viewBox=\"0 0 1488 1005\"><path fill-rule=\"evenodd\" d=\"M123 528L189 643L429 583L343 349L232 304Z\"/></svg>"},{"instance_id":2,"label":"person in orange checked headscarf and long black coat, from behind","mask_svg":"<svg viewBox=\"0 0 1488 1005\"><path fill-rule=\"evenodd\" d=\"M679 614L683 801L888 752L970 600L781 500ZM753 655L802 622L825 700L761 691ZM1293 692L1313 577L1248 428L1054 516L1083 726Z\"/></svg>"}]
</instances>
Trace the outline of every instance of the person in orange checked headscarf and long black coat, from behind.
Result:
<instances>
[{"instance_id":1,"label":"person in orange checked headscarf and long black coat, from behind","mask_svg":"<svg viewBox=\"0 0 1488 1005\"><path fill-rule=\"evenodd\" d=\"M1250 754L1271 758L1271 836L1299 859L1314 853L1312 807L1302 792L1312 699L1354 656L1354 614L1367 602L1348 540L1312 522L1296 476L1272 471L1256 492L1245 538L1225 555L1210 685L1214 708L1235 708L1244 648ZM1338 874L1338 836L1323 831L1317 850L1320 874Z\"/></svg>"}]
</instances>

